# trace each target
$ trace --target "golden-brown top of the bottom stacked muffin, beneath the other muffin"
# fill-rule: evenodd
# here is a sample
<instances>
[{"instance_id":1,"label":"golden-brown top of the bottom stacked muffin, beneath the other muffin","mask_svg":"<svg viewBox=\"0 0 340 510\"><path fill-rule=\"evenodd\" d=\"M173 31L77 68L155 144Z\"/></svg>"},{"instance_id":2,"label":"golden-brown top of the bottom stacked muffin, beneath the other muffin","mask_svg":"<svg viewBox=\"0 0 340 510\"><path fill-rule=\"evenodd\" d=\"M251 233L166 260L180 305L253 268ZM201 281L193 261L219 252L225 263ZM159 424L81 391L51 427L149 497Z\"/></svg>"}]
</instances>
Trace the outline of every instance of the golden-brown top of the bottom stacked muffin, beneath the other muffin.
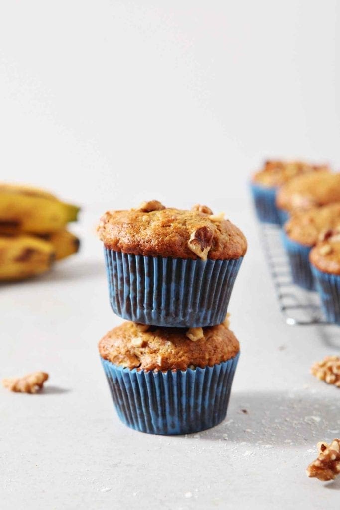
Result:
<instances>
[{"instance_id":1,"label":"golden-brown top of the bottom stacked muffin, beneath the other muffin","mask_svg":"<svg viewBox=\"0 0 340 510\"><path fill-rule=\"evenodd\" d=\"M226 324L171 328L123 322L99 342L105 360L139 370L186 370L233 358L240 344Z\"/></svg>"}]
</instances>

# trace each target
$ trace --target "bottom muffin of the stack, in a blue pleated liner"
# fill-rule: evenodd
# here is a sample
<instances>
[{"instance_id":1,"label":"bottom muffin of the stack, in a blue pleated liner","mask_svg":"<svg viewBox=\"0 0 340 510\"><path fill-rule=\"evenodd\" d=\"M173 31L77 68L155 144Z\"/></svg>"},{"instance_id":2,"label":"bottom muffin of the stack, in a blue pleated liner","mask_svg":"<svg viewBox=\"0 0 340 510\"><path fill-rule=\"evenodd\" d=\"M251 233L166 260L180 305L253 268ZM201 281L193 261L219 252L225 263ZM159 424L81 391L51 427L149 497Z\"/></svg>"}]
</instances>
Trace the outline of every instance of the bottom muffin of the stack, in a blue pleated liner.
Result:
<instances>
[{"instance_id":1,"label":"bottom muffin of the stack, in a blue pleated liner","mask_svg":"<svg viewBox=\"0 0 340 510\"><path fill-rule=\"evenodd\" d=\"M228 322L159 328L124 322L99 342L119 418L153 434L186 434L226 415L240 344Z\"/></svg>"}]
</instances>

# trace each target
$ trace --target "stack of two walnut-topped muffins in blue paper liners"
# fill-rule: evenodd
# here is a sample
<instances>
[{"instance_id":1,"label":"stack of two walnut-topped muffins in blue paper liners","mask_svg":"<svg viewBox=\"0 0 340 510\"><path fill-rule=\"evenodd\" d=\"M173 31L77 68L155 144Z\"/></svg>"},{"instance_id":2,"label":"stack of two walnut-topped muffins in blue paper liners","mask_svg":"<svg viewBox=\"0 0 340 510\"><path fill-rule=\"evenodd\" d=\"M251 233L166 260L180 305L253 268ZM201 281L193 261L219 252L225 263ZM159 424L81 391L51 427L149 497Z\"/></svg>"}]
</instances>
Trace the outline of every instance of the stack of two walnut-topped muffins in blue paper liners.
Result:
<instances>
[{"instance_id":1,"label":"stack of two walnut-topped muffins in blue paper liners","mask_svg":"<svg viewBox=\"0 0 340 510\"><path fill-rule=\"evenodd\" d=\"M239 359L226 314L246 238L205 206L156 200L107 212L98 233L112 309L129 321L99 342L119 417L159 434L217 425Z\"/></svg>"}]
</instances>

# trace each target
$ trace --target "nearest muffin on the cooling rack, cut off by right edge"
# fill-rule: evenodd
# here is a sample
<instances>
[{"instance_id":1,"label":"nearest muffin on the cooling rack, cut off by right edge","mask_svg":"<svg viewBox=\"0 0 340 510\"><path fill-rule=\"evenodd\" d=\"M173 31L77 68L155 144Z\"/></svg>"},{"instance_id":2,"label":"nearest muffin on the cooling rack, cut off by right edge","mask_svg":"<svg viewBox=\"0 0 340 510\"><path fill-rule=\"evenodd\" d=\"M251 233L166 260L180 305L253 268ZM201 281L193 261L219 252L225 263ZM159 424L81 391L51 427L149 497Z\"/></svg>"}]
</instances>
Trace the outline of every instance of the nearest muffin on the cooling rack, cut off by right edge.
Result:
<instances>
[{"instance_id":1,"label":"nearest muffin on the cooling rack, cut off by right edge","mask_svg":"<svg viewBox=\"0 0 340 510\"><path fill-rule=\"evenodd\" d=\"M340 324L340 234L313 247L309 260L326 319Z\"/></svg>"}]
</instances>

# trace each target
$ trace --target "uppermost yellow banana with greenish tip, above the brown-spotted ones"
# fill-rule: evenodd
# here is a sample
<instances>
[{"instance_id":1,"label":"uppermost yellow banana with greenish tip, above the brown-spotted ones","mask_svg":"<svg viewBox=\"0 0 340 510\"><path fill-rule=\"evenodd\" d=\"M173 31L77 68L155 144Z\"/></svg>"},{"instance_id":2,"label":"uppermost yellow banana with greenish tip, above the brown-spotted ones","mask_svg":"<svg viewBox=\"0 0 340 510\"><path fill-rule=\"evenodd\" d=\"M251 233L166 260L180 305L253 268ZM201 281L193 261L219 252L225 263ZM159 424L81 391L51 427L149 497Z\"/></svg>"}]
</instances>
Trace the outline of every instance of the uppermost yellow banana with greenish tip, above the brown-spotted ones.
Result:
<instances>
[{"instance_id":1,"label":"uppermost yellow banana with greenish tip, above the brown-spotted ones","mask_svg":"<svg viewBox=\"0 0 340 510\"><path fill-rule=\"evenodd\" d=\"M0 185L0 232L45 234L77 219L79 207L27 186Z\"/></svg>"}]
</instances>

